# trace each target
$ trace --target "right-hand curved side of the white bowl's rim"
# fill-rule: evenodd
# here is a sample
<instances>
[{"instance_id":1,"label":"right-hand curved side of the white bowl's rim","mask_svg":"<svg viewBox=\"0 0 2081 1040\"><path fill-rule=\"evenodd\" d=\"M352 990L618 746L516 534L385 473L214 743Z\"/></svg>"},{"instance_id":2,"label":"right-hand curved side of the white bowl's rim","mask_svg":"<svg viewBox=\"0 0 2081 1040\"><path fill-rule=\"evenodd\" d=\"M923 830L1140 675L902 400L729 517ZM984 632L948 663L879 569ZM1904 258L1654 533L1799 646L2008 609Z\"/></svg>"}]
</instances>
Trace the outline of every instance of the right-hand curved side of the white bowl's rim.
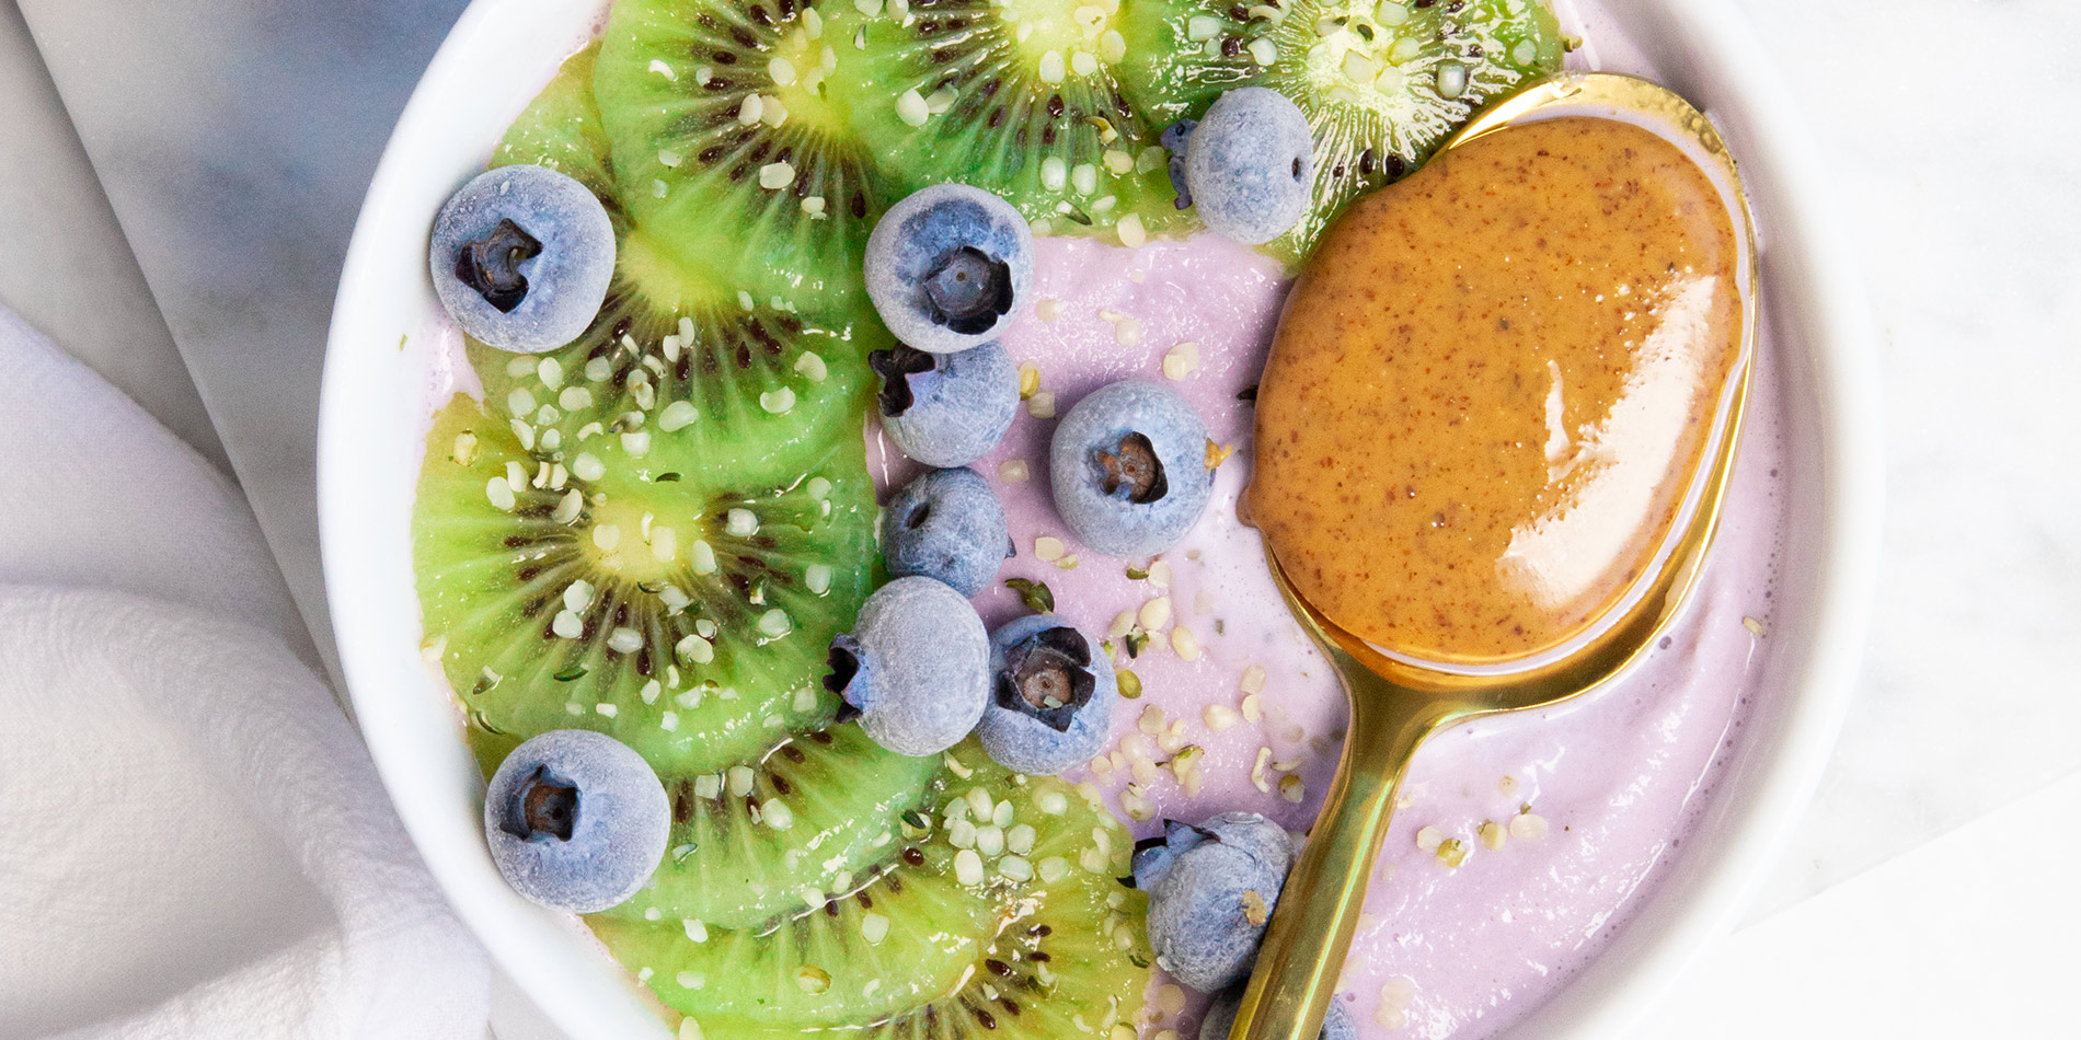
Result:
<instances>
[{"instance_id":1,"label":"right-hand curved side of the white bowl's rim","mask_svg":"<svg viewBox=\"0 0 2081 1040\"><path fill-rule=\"evenodd\" d=\"M1806 626L1813 649L1798 666L1802 682L1781 699L1777 743L1748 751L1761 768L1750 770L1746 790L1721 792L1729 805L1717 822L1717 855L1702 861L1686 855L1696 863L1681 890L1671 892L1665 884L1648 894L1656 928L1638 936L1646 913L1636 915L1627 924L1634 936L1621 936L1540 1009L1540 1025L1552 1030L1548 1036L1625 1036L1684 971L1736 930L1783 857L1856 695L1885 493L1871 308L1838 229L1838 210L1829 206L1831 183L1785 79L1754 27L1727 0L1607 0L1607 8L1634 10L1650 27L1661 21L1661 33L1642 35L1681 40L1681 58L1694 75L1725 85L1731 104L1706 104L1704 110L1738 146L1742 181L1750 198L1761 200L1756 210L1769 214L1761 243L1765 264L1796 270L1804 289L1792 300L1779 293L1767 304L1767 320L1783 316L1804 327L1806 349L1798 358L1804 370L1798 374L1823 404L1815 416L1823 508L1817 530L1802 532L1819 543Z\"/></svg>"}]
</instances>

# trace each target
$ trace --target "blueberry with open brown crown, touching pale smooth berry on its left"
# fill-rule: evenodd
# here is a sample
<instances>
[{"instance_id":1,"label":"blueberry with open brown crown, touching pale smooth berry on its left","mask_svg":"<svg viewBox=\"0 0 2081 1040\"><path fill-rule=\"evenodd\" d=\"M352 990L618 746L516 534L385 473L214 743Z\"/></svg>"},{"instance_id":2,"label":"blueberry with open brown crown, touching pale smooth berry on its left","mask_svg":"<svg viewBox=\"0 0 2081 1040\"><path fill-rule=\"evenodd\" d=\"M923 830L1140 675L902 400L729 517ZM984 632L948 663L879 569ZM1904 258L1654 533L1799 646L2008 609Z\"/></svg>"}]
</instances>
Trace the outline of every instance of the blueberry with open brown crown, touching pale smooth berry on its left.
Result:
<instances>
[{"instance_id":1,"label":"blueberry with open brown crown, touching pale smooth berry on its left","mask_svg":"<svg viewBox=\"0 0 2081 1040\"><path fill-rule=\"evenodd\" d=\"M1113 701L1105 649L1063 618L1030 614L991 632L991 703L976 734L999 765L1051 776L1099 755Z\"/></svg>"}]
</instances>

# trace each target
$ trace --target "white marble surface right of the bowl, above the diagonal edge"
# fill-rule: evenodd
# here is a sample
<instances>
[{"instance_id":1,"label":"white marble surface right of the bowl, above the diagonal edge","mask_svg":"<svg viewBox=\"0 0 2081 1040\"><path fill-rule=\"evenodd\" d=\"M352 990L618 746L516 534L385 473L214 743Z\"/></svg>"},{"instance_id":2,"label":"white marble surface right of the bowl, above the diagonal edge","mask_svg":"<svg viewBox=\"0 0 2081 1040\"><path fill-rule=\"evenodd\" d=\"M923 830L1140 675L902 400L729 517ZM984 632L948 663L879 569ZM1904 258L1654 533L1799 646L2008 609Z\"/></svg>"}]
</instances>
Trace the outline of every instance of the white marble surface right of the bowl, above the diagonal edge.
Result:
<instances>
[{"instance_id":1,"label":"white marble surface right of the bowl, above the diagonal edge","mask_svg":"<svg viewBox=\"0 0 2081 1040\"><path fill-rule=\"evenodd\" d=\"M1829 150L1885 381L1862 695L1769 913L2081 768L2081 4L1740 6Z\"/></svg>"}]
</instances>

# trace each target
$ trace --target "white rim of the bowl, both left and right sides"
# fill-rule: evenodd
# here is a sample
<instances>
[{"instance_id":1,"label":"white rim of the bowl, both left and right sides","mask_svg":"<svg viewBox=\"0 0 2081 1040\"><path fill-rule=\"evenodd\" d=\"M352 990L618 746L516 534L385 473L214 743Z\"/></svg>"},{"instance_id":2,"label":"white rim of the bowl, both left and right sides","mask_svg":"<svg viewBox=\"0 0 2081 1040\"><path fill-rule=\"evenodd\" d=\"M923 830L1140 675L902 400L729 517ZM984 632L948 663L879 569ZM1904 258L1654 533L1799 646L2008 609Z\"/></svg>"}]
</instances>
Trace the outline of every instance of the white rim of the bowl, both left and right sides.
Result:
<instances>
[{"instance_id":1,"label":"white rim of the bowl, both left and right sides","mask_svg":"<svg viewBox=\"0 0 2081 1040\"><path fill-rule=\"evenodd\" d=\"M377 379L372 362L364 360L372 352L358 345L397 335L370 324L370 310L381 308L366 308L364 302L395 272L393 250L402 229L425 225L422 206L410 204L412 196L425 196L427 181L416 152L445 133L454 119L447 108L456 83L466 79L470 56L497 40L502 27L512 19L572 23L574 6L593 10L591 25L597 29L597 10L606 8L606 0L472 0L433 56L383 150L348 245L327 337L316 453L318 541L356 722L406 832L458 915L570 1036L666 1036L622 971L591 951L583 959L570 955L591 942L583 926L520 901L504 884L487 884L487 876L497 880L495 867L481 840L474 851L468 840L458 840L456 805L443 805L452 799L422 797L429 782L452 782L456 763L454 755L429 761L414 751L429 740L425 732L414 734L429 713L427 705L410 703L389 684L400 676L397 647L387 645L397 630L397 612L393 599L379 595L385 589L383 568L368 566L370 543L383 539L372 539L358 518L360 480L368 466L356 456L366 456L362 428L368 418L354 391ZM1744 761L1752 768L1742 784L1727 784L1717 795L1729 803L1715 822L1719 849L1681 857L1677 863L1688 863L1681 884L1650 892L1621 938L1513 1030L1527 1034L1527 1025L1536 1025L1538 1036L1584 1038L1621 1036L1638 1023L1717 938L1736 928L1769 867L1783 855L1854 697L1883 501L1871 312L1790 89L1748 21L1727 0L1607 0L1602 6L1615 15L1629 12L1621 19L1629 25L1634 19L1646 23L1650 31L1634 33L1638 37L1681 44L1681 58L1692 71L1731 98L1731 104L1706 110L1715 121L1733 119L1744 146L1744 183L1752 198L1761 187L1767 200L1758 204L1761 212L1769 212L1767 262L1800 270L1804 291L1798 300L1769 306L1800 304L1792 308L1806 329L1798 376L1813 385L1825 408L1815 416L1821 510L1817 530L1804 532L1819 545L1819 566L1810 576L1808 651L1792 664L1798 682L1781 697L1781 738L1746 749ZM572 40L576 44L579 35ZM425 241L422 233L408 239ZM412 262L422 277L416 256ZM408 624L418 630L416 612ZM410 649L416 659L416 643ZM481 782L477 786L481 790Z\"/></svg>"}]
</instances>

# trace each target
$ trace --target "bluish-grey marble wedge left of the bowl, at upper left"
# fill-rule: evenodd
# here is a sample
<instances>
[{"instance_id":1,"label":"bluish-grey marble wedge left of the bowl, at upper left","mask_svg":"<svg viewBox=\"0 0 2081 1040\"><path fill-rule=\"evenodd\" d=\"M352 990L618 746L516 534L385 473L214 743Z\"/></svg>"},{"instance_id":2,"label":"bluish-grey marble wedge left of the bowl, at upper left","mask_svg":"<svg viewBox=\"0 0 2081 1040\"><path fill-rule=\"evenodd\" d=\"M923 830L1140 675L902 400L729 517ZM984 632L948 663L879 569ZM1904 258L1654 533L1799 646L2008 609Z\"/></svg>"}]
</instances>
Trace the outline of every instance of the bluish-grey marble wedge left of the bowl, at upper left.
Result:
<instances>
[{"instance_id":1,"label":"bluish-grey marble wedge left of the bowl, at upper left","mask_svg":"<svg viewBox=\"0 0 2081 1040\"><path fill-rule=\"evenodd\" d=\"M19 0L327 661L314 418L362 191L462 0Z\"/></svg>"}]
</instances>

